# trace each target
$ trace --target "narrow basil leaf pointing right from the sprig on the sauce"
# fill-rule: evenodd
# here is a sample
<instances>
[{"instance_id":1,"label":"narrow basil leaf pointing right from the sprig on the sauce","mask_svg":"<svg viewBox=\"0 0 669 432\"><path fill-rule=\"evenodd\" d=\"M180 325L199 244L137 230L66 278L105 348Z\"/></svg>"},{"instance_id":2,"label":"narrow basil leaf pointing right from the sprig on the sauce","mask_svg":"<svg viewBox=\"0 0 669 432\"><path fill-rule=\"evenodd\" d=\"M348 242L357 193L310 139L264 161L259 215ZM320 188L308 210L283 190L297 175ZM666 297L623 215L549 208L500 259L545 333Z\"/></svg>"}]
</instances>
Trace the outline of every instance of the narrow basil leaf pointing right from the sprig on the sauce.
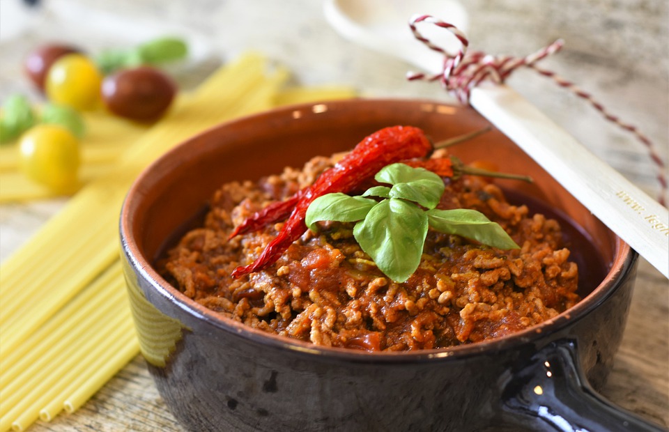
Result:
<instances>
[{"instance_id":1,"label":"narrow basil leaf pointing right from the sprig on the sauce","mask_svg":"<svg viewBox=\"0 0 669 432\"><path fill-rule=\"evenodd\" d=\"M491 222L477 210L456 208L454 210L427 210L429 224L433 229L447 234L456 234L482 242L498 249L519 249L516 242L502 227Z\"/></svg>"}]
</instances>

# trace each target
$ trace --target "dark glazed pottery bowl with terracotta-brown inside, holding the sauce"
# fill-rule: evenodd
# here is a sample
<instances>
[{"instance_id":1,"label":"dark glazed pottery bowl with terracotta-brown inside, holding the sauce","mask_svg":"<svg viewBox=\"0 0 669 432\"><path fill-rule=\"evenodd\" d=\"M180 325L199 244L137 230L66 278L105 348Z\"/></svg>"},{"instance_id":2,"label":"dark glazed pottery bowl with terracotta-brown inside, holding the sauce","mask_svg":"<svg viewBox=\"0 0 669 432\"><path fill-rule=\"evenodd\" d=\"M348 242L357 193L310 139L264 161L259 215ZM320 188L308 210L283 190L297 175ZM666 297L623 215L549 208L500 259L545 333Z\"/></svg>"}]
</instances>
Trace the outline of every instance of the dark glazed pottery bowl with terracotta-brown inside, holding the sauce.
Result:
<instances>
[{"instance_id":1,"label":"dark glazed pottery bowl with terracotta-brown inside, holding the sauce","mask_svg":"<svg viewBox=\"0 0 669 432\"><path fill-rule=\"evenodd\" d=\"M153 267L222 183L302 167L314 155L351 149L367 134L400 124L422 128L434 141L488 125L468 107L428 100L287 107L203 132L137 178L121 214L125 273L141 351L179 422L199 431L615 430L641 424L594 390L620 344L636 253L494 128L452 153L532 176L532 184L504 180L500 186L573 221L587 238L575 253L584 300L541 325L448 350L323 348L210 311Z\"/></svg>"}]
</instances>

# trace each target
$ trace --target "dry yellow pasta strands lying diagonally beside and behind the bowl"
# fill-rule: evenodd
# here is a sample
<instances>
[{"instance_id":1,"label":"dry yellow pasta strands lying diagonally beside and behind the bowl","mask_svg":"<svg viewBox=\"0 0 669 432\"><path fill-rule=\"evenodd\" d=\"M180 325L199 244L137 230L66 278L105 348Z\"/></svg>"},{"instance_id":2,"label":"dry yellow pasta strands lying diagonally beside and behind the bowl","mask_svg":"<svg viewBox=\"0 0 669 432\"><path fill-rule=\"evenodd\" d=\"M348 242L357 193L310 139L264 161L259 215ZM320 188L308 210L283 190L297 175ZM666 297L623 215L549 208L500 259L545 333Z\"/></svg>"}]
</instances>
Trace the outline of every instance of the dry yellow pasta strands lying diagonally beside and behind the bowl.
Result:
<instances>
[{"instance_id":1,"label":"dry yellow pasta strands lying diagonally beside and behind the bowl","mask_svg":"<svg viewBox=\"0 0 669 432\"><path fill-rule=\"evenodd\" d=\"M92 174L97 177L0 266L0 432L76 410L139 353L121 276L117 218L141 169L230 118L353 96L348 88L283 90L286 70L267 70L262 56L242 56L179 98L166 118L142 130L125 150L109 140L98 159L89 153L91 166L114 160L109 173Z\"/></svg>"}]
</instances>

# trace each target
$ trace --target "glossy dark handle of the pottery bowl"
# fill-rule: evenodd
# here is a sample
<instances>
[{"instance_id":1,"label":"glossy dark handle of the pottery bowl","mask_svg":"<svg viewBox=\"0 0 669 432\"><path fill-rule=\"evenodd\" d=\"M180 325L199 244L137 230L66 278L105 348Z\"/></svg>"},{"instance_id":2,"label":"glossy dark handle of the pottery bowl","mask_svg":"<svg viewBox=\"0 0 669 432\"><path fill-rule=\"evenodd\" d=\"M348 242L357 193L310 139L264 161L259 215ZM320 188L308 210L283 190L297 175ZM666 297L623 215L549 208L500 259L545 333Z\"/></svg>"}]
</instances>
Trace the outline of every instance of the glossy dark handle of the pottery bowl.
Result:
<instances>
[{"instance_id":1,"label":"glossy dark handle of the pottery bowl","mask_svg":"<svg viewBox=\"0 0 669 432\"><path fill-rule=\"evenodd\" d=\"M663 431L595 392L578 361L577 344L551 342L500 380L503 422L555 431Z\"/></svg>"}]
</instances>

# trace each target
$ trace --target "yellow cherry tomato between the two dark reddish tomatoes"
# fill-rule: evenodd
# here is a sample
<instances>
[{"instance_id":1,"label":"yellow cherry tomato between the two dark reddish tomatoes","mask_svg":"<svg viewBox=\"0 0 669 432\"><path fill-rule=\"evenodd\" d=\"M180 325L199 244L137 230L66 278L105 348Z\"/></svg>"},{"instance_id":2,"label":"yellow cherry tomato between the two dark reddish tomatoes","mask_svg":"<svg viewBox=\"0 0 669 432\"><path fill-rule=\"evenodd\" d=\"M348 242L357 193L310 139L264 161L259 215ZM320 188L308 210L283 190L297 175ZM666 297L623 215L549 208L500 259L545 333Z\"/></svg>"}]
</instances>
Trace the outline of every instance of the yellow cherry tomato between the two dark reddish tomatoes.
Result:
<instances>
[{"instance_id":1,"label":"yellow cherry tomato between the two dark reddish tomatoes","mask_svg":"<svg viewBox=\"0 0 669 432\"><path fill-rule=\"evenodd\" d=\"M82 54L66 54L47 73L47 97L55 103L80 111L100 103L102 74L93 61Z\"/></svg>"}]
</instances>

